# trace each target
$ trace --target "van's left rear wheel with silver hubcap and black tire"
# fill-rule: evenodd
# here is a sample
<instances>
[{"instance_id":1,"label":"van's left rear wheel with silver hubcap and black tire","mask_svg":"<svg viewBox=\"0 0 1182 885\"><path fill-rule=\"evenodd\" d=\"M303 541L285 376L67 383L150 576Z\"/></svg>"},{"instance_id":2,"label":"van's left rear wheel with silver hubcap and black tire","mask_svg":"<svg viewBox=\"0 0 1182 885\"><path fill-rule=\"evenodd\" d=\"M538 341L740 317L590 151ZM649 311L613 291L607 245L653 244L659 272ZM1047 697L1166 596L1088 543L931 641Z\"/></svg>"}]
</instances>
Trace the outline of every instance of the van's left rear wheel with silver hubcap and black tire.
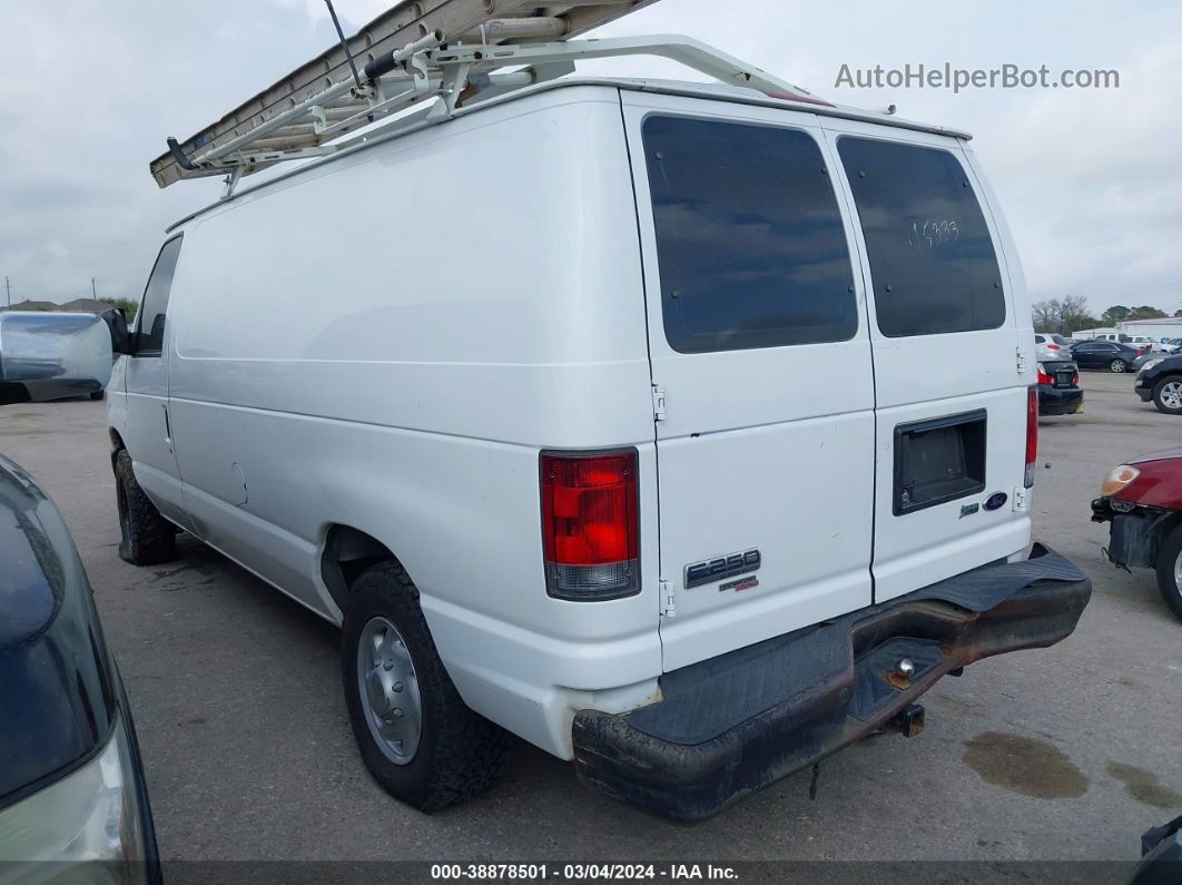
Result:
<instances>
[{"instance_id":1,"label":"van's left rear wheel with silver hubcap and black tire","mask_svg":"<svg viewBox=\"0 0 1182 885\"><path fill-rule=\"evenodd\" d=\"M397 562L378 562L352 591L340 670L365 767L388 793L424 812L480 795L504 768L508 734L463 703L414 581Z\"/></svg>"}]
</instances>

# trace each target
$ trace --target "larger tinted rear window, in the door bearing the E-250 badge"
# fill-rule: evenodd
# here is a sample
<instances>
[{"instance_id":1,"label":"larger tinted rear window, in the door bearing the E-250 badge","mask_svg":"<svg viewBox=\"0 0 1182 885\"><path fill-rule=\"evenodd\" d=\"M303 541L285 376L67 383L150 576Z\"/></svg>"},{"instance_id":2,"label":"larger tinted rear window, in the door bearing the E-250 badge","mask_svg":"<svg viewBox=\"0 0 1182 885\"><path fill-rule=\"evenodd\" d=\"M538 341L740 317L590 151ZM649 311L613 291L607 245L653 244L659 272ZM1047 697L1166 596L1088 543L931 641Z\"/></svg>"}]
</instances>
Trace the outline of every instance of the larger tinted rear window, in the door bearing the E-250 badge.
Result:
<instances>
[{"instance_id":1,"label":"larger tinted rear window, in the door bearing the E-250 badge","mask_svg":"<svg viewBox=\"0 0 1182 885\"><path fill-rule=\"evenodd\" d=\"M649 117L665 338L681 353L844 341L858 330L833 184L806 132Z\"/></svg>"}]
</instances>

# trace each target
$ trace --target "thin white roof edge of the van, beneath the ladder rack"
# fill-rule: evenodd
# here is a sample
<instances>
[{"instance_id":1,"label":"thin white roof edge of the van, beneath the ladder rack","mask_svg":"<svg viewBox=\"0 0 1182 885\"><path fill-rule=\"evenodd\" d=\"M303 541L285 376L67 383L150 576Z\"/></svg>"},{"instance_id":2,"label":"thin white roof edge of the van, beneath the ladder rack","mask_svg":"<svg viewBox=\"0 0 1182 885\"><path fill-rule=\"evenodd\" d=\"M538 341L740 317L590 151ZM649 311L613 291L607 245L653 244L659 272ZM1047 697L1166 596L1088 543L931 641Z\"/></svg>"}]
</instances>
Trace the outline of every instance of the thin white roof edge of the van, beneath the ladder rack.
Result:
<instances>
[{"instance_id":1,"label":"thin white roof edge of the van, beneath the ladder rack","mask_svg":"<svg viewBox=\"0 0 1182 885\"><path fill-rule=\"evenodd\" d=\"M765 108L780 108L785 110L795 110L806 113L817 113L825 117L863 121L866 123L877 123L881 125L895 126L897 129L905 129L917 132L930 132L934 135L943 135L953 138L961 138L965 141L968 141L973 137L969 132L963 130L896 117L894 112L868 111L859 108L832 104L827 100L819 98L804 97L797 95L784 95L784 96L768 95L754 89L745 89L742 86L730 86L721 83L694 83L690 80L664 80L664 79L635 78L635 77L572 76L554 80L546 80L544 83L539 83L532 86L524 86L520 89L515 89L505 95L481 100L472 105L470 108L459 108L456 109L454 115L452 115L450 117L442 118L441 121L424 119L418 125L411 128L395 128L395 130L390 132L383 132L381 128L378 128L376 131L374 131L372 137L363 143L342 150L338 154L314 160L309 160L307 162L299 163L294 167L286 169L279 175L275 175L274 177L267 178L266 181L260 181L256 184L252 184L249 187L245 187L241 190L238 190L229 196L223 196L222 199L213 203L209 203L208 206L204 206L193 213L189 213L188 215L169 224L169 227L165 230L165 234L170 234L182 224L193 221L194 219L206 214L212 209L234 202L241 196L245 196L247 194L254 194L259 190L273 186L277 182L286 181L288 178L303 175L311 169L320 168L324 164L335 162L342 157L352 156L358 151L364 151L369 148L383 144L394 138L398 138L401 136L420 131L421 129L435 125L436 122L467 117L468 115L479 113L483 110L494 106L500 106L509 102L518 102L528 96L535 96L541 92L551 92L560 89L570 89L572 86L605 86L610 89L631 90L636 92L657 92L662 95L707 98L721 102L734 102L736 104L748 104L748 105L760 105Z\"/></svg>"}]
</instances>

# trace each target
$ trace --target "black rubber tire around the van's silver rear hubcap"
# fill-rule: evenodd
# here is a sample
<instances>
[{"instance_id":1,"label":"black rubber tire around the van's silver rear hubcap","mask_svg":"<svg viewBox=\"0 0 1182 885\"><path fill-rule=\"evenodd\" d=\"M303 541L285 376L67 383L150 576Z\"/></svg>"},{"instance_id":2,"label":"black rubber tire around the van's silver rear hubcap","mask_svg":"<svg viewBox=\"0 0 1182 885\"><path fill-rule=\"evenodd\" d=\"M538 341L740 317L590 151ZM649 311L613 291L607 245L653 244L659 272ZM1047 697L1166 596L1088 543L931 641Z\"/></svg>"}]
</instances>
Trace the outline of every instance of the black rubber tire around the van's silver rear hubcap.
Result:
<instances>
[{"instance_id":1,"label":"black rubber tire around the van's silver rear hubcap","mask_svg":"<svg viewBox=\"0 0 1182 885\"><path fill-rule=\"evenodd\" d=\"M395 626L414 665L421 699L418 744L404 764L391 761L375 738L362 696L358 655L366 625L383 618ZM460 697L435 650L418 606L418 588L397 562L370 566L352 586L340 642L345 707L362 760L390 795L434 812L486 792L505 766L508 734L474 712Z\"/></svg>"}]
</instances>

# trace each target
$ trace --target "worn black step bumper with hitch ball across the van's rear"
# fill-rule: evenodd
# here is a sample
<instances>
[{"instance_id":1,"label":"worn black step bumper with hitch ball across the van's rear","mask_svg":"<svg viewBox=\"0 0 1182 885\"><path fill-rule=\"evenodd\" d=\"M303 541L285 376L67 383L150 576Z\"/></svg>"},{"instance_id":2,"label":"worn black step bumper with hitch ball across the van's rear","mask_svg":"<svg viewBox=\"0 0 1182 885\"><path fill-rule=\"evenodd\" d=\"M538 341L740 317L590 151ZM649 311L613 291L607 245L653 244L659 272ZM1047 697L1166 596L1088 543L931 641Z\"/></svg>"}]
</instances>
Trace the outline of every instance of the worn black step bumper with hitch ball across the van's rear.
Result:
<instances>
[{"instance_id":1,"label":"worn black step bumper with hitch ball across the van's rear","mask_svg":"<svg viewBox=\"0 0 1182 885\"><path fill-rule=\"evenodd\" d=\"M888 725L949 671L1064 639L1090 598L1086 575L1035 544L1027 560L664 673L658 703L574 716L579 777L667 818L708 818Z\"/></svg>"}]
</instances>

